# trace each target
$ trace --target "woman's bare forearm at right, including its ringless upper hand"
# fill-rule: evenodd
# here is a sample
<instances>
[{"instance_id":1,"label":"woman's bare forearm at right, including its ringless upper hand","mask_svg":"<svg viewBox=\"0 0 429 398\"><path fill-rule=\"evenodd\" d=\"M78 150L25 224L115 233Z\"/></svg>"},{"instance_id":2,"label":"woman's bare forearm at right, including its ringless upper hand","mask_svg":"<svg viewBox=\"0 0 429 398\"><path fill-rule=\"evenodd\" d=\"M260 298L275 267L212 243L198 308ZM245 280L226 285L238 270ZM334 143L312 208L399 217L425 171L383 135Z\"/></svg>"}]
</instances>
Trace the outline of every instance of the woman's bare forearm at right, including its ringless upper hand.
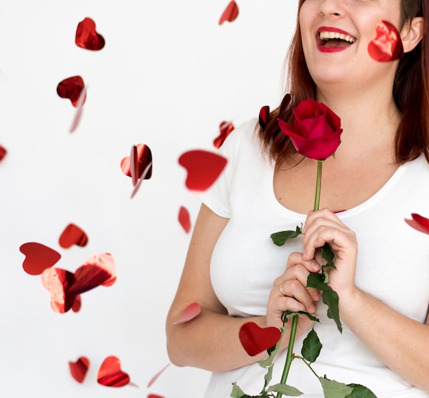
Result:
<instances>
[{"instance_id":1,"label":"woman's bare forearm at right, including its ringless upper hand","mask_svg":"<svg viewBox=\"0 0 429 398\"><path fill-rule=\"evenodd\" d=\"M356 287L356 237L332 212L310 212L304 232L304 259L326 242L334 251L330 285L339 295L343 322L395 373L429 392L429 318L421 324Z\"/></svg>"}]
</instances>

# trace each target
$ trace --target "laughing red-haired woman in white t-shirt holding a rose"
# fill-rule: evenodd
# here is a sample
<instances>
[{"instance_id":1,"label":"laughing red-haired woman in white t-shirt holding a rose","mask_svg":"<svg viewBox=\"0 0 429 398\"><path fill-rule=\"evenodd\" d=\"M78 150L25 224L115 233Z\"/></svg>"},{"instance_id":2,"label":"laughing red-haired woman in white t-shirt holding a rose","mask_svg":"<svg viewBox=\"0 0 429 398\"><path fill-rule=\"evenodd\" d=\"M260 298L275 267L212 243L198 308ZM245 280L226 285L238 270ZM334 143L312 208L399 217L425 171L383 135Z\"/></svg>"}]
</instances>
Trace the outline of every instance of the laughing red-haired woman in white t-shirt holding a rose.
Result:
<instances>
[{"instance_id":1,"label":"laughing red-haired woman in white t-shirt holding a rose","mask_svg":"<svg viewBox=\"0 0 429 398\"><path fill-rule=\"evenodd\" d=\"M167 318L171 361L213 372L206 398L229 397L233 382L260 393L265 370L256 362L267 353L247 355L238 330L249 321L281 327L287 309L317 312L315 325L299 318L295 352L314 327L323 344L312 365L319 376L362 384L378 397L429 397L429 237L404 222L410 213L429 215L428 9L427 0L299 0L292 101L280 116L293 124L302 100L323 102L341 117L342 142L323 164L315 212L308 210L317 162L302 159L279 130L279 109L264 130L255 119L223 143L228 167L203 197ZM402 60L369 56L380 20L400 31ZM322 40L339 30L345 40ZM300 224L304 237L282 247L270 241ZM319 292L306 288L308 274L320 270L316 248L326 242L335 255L330 286L339 294L342 334ZM201 314L172 325L193 302ZM323 397L299 360L287 384Z\"/></svg>"}]
</instances>

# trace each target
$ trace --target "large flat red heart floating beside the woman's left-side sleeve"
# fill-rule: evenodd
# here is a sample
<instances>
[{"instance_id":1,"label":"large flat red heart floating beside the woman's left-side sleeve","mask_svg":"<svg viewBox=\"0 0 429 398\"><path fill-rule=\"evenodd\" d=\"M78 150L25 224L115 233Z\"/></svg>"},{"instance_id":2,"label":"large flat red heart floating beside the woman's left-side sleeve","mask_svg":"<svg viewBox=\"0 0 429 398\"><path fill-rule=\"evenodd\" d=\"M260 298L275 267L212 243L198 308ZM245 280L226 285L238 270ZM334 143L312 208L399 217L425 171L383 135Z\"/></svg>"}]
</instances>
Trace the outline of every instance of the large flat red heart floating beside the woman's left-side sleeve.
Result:
<instances>
[{"instance_id":1,"label":"large flat red heart floating beside the woman's left-side sleeve","mask_svg":"<svg viewBox=\"0 0 429 398\"><path fill-rule=\"evenodd\" d=\"M206 150L191 150L179 158L179 164L188 172L185 185L190 191L196 193L210 188L226 163L227 159L223 156Z\"/></svg>"}]
</instances>

